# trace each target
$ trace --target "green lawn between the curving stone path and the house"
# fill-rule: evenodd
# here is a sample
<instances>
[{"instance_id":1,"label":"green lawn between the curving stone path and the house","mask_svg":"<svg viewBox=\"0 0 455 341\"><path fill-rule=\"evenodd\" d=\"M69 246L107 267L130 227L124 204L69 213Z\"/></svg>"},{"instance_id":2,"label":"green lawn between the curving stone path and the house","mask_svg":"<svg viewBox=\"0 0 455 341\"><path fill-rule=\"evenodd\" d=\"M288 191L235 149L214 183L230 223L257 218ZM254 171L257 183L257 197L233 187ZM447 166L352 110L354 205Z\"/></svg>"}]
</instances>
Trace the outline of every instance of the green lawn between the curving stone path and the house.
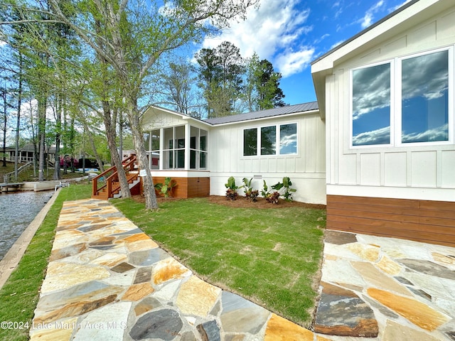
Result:
<instances>
[{"instance_id":1,"label":"green lawn between the curving stone path and the house","mask_svg":"<svg viewBox=\"0 0 455 341\"><path fill-rule=\"evenodd\" d=\"M196 198L150 212L132 199L112 202L206 281L310 325L325 210L232 208Z\"/></svg>"}]
</instances>

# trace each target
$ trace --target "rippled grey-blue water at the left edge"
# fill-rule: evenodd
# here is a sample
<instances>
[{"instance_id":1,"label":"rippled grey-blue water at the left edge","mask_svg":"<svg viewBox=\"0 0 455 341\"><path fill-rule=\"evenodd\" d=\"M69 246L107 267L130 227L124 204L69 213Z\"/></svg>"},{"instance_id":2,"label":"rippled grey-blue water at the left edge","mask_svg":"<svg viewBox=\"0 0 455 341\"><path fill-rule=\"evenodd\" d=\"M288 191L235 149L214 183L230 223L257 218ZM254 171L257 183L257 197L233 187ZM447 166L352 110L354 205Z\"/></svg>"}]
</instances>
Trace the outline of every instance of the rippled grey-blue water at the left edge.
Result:
<instances>
[{"instance_id":1,"label":"rippled grey-blue water at the left edge","mask_svg":"<svg viewBox=\"0 0 455 341\"><path fill-rule=\"evenodd\" d=\"M0 194L0 259L38 215L53 191Z\"/></svg>"}]
</instances>

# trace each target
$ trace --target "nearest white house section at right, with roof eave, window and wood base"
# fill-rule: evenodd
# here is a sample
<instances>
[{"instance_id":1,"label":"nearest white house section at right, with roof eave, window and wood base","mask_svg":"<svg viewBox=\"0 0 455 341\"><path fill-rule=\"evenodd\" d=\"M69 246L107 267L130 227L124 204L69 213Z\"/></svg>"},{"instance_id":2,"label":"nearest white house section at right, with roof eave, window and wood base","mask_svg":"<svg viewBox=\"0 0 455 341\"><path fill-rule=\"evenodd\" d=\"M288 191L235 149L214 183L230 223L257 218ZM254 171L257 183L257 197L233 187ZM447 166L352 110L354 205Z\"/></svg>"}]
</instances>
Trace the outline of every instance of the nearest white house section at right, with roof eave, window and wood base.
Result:
<instances>
[{"instance_id":1,"label":"nearest white house section at right, with roof eave, window and wood base","mask_svg":"<svg viewBox=\"0 0 455 341\"><path fill-rule=\"evenodd\" d=\"M311 65L328 228L455 245L455 1L410 1Z\"/></svg>"}]
</instances>

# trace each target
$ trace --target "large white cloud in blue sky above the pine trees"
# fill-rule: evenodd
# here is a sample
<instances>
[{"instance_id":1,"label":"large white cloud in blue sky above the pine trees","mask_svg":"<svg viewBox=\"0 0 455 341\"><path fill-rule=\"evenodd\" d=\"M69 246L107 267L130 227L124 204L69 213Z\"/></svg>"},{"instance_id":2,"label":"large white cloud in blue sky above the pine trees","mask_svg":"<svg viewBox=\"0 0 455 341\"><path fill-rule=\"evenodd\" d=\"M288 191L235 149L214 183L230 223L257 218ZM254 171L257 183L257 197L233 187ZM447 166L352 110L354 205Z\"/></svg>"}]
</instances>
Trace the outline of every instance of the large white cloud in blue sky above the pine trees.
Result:
<instances>
[{"instance_id":1,"label":"large white cloud in blue sky above the pine trees","mask_svg":"<svg viewBox=\"0 0 455 341\"><path fill-rule=\"evenodd\" d=\"M301 9L298 0L287 3L261 0L259 9L250 8L245 21L233 21L220 36L207 38L203 48L215 48L223 41L240 48L242 57L257 53L272 62L283 77L300 72L314 56L314 48L301 45L303 36L313 27L306 25L309 9Z\"/></svg>"}]
</instances>

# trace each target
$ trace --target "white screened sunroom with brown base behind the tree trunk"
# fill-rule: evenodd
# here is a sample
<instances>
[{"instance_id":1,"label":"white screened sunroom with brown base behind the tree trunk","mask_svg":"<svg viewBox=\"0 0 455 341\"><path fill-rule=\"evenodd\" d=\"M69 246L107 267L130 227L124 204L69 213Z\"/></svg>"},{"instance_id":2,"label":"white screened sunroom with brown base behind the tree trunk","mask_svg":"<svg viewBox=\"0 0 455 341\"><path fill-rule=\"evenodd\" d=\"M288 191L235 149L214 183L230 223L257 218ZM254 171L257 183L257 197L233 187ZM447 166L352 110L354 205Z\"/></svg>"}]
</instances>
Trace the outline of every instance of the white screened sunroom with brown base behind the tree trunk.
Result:
<instances>
[{"instance_id":1,"label":"white screened sunroom with brown base behind the tree trunk","mask_svg":"<svg viewBox=\"0 0 455 341\"><path fill-rule=\"evenodd\" d=\"M210 194L210 125L172 110L149 107L144 115L144 144L154 183L171 178L173 197Z\"/></svg>"}]
</instances>

